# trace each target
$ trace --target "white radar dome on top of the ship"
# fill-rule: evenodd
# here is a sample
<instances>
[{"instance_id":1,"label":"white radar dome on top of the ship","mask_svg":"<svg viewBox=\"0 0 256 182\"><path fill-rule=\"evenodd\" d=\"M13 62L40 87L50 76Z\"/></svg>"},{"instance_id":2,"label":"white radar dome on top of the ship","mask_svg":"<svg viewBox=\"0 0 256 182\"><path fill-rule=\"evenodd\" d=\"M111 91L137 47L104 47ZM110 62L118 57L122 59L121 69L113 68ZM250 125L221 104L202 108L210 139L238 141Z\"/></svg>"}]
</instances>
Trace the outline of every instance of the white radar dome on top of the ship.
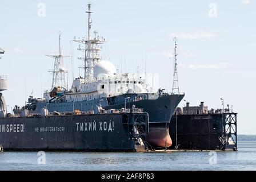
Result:
<instances>
[{"instance_id":1,"label":"white radar dome on top of the ship","mask_svg":"<svg viewBox=\"0 0 256 182\"><path fill-rule=\"evenodd\" d=\"M115 66L110 61L101 61L94 67L94 78L99 76L114 76L115 75Z\"/></svg>"}]
</instances>

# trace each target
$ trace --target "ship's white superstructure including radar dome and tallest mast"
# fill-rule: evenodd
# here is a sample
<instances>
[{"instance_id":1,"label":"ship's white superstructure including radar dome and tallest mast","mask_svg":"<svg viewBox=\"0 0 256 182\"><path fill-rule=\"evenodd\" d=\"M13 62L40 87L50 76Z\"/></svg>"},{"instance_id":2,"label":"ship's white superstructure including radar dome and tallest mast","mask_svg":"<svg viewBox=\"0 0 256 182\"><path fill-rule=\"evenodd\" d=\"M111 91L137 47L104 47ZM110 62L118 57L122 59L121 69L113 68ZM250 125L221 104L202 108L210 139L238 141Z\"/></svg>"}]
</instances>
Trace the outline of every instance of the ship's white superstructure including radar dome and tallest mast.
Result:
<instances>
[{"instance_id":1,"label":"ship's white superstructure including radar dome and tallest mast","mask_svg":"<svg viewBox=\"0 0 256 182\"><path fill-rule=\"evenodd\" d=\"M79 46L78 50L85 53L85 57L78 58L85 63L85 77L79 77L73 81L68 93L63 94L66 102L89 101L101 97L113 97L126 93L154 93L146 84L146 80L138 73L118 73L114 64L110 61L101 60L101 44L105 39L91 36L92 19L91 4L88 4L88 36L87 39L74 40L85 44L85 48ZM45 96L49 100L48 96Z\"/></svg>"}]
</instances>

